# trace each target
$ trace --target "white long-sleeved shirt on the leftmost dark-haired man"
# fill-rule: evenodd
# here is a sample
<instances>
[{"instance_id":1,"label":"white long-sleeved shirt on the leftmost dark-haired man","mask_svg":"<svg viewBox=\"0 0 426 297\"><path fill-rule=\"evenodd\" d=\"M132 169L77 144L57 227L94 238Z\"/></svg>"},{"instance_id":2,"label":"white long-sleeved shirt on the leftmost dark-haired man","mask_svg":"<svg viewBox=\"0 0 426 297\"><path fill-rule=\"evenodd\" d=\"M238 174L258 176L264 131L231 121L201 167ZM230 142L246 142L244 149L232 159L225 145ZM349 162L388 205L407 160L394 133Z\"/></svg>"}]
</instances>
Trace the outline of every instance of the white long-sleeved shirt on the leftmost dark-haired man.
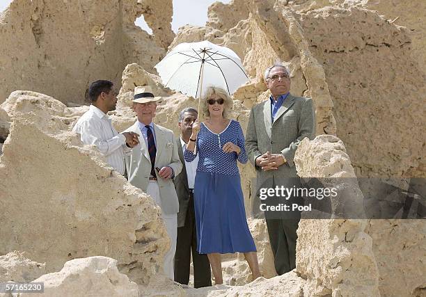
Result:
<instances>
[{"instance_id":1,"label":"white long-sleeved shirt on the leftmost dark-haired man","mask_svg":"<svg viewBox=\"0 0 426 297\"><path fill-rule=\"evenodd\" d=\"M90 105L89 110L79 118L72 131L80 134L85 145L96 145L97 149L109 165L121 175L125 173L126 137L118 134L111 124L111 118L96 106Z\"/></svg>"}]
</instances>

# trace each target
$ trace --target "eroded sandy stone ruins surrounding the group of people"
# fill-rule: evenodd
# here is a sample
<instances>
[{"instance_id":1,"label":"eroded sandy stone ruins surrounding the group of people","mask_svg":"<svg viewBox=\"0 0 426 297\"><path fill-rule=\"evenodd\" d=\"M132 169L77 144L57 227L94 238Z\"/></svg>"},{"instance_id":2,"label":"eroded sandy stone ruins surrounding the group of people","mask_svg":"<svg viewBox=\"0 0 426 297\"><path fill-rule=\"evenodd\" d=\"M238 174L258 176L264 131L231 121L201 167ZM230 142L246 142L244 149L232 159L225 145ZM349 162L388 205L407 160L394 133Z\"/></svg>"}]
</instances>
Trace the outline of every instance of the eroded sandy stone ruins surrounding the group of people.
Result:
<instances>
[{"instance_id":1,"label":"eroded sandy stone ruins surrounding the group of people","mask_svg":"<svg viewBox=\"0 0 426 297\"><path fill-rule=\"evenodd\" d=\"M178 111L196 101L164 88L153 66L181 42L210 40L249 74L231 113L243 131L277 59L292 93L313 98L318 136L297 150L301 177L426 177L425 12L421 0L233 0L175 35L171 0L13 1L0 15L0 280L52 280L49 294L65 296L78 284L58 275L87 257L79 280L114 280L112 296L426 296L424 220L301 220L297 268L276 276L265 222L249 218L265 279L248 283L244 257L226 255L226 286L174 284L159 273L159 209L70 131L102 78L120 86L118 131L134 122L134 86L149 85L166 97L155 121L177 135ZM140 15L153 35L134 25ZM255 172L240 172L249 215ZM342 199L363 200L354 193Z\"/></svg>"}]
</instances>

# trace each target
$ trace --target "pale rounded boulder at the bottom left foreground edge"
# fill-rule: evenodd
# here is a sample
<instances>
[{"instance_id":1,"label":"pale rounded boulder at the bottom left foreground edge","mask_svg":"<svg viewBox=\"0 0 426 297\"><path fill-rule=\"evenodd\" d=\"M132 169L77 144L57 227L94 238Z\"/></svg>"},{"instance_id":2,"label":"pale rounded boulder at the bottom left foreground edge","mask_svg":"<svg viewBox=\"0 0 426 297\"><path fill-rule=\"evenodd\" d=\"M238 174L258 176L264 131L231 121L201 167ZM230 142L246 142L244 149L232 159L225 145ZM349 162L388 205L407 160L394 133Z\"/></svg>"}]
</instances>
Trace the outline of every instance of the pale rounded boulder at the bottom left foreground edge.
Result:
<instances>
[{"instance_id":1,"label":"pale rounded boulder at the bottom left foreground edge","mask_svg":"<svg viewBox=\"0 0 426 297\"><path fill-rule=\"evenodd\" d=\"M117 261L109 257L73 259L61 271L42 275L34 282L45 284L44 293L22 296L139 296L138 285L120 273Z\"/></svg>"}]
</instances>

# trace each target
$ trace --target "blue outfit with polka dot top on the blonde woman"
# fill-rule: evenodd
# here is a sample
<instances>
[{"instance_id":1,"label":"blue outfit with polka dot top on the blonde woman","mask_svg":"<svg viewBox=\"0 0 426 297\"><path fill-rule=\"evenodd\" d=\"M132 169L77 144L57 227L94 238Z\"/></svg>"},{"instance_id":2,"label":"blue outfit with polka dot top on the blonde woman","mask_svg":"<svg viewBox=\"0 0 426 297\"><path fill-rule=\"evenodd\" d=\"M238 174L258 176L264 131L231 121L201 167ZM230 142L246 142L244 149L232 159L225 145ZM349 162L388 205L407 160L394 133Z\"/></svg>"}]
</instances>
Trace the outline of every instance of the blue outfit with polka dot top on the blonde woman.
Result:
<instances>
[{"instance_id":1,"label":"blue outfit with polka dot top on the blonde woman","mask_svg":"<svg viewBox=\"0 0 426 297\"><path fill-rule=\"evenodd\" d=\"M228 142L239 146L239 155L223 152ZM231 120L220 134L201 123L196 147L200 157L194 186L198 252L255 252L237 166L237 160L248 161L239 122ZM193 152L184 151L186 161L195 157Z\"/></svg>"}]
</instances>

